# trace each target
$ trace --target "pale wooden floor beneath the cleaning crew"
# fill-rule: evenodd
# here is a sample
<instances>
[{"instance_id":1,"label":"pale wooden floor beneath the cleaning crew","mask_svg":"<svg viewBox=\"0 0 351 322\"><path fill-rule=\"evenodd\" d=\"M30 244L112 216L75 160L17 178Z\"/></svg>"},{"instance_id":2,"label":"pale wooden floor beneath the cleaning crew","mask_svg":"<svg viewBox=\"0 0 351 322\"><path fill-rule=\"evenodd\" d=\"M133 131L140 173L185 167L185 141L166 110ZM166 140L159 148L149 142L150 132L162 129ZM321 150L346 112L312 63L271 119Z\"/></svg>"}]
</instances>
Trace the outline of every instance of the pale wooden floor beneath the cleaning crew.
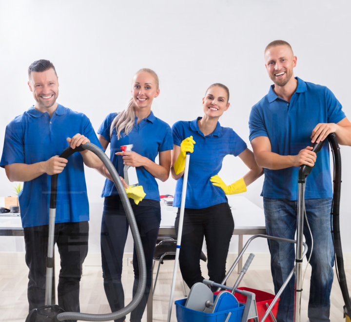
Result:
<instances>
[{"instance_id":1,"label":"pale wooden floor beneath the cleaning crew","mask_svg":"<svg viewBox=\"0 0 351 322\"><path fill-rule=\"evenodd\" d=\"M154 296L153 321L166 321L171 290L173 262L168 262L161 266L159 278ZM229 263L229 266L231 263ZM203 265L204 266L204 265ZM155 270L156 271L156 270ZM206 267L203 267L206 272ZM28 302L26 295L26 285L28 282L28 269L24 262L24 254L0 254L0 321L23 322L28 314ZM154 277L155 277L154 273ZM102 285L100 266L84 266L81 280L80 307L86 313L109 313L110 308L107 303ZM228 284L233 285L237 274L233 272ZM131 299L133 285L133 267L126 266L123 272L123 284L125 285L126 301ZM307 322L307 303L309 290L310 270L307 270L304 292L301 303L301 322ZM347 281L349 289L351 285L351 270L347 270ZM240 286L247 286L269 293L273 293L273 283L269 269L249 268ZM177 276L176 291L174 300L184 298L180 274ZM129 321L129 317L127 317ZM142 321L146 321L146 312ZM173 306L172 319L176 321L176 308ZM343 300L336 277L331 291L331 322L341 322L343 319Z\"/></svg>"}]
</instances>

